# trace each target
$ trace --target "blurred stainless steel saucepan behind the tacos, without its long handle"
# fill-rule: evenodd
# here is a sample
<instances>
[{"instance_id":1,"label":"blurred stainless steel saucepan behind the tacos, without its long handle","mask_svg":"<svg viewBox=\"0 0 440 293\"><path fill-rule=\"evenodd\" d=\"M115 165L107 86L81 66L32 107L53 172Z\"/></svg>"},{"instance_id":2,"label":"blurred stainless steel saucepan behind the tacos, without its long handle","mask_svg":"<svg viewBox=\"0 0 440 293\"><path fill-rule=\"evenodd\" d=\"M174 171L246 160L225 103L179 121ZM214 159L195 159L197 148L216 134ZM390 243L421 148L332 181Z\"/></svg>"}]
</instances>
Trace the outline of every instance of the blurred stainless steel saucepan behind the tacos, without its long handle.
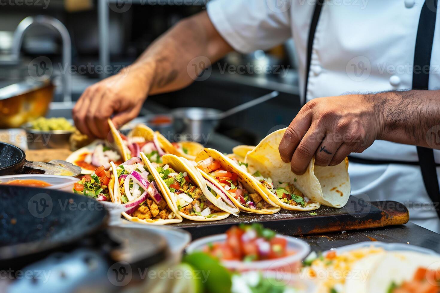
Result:
<instances>
[{"instance_id":1,"label":"blurred stainless steel saucepan behind the tacos, without its long handle","mask_svg":"<svg viewBox=\"0 0 440 293\"><path fill-rule=\"evenodd\" d=\"M206 141L218 126L220 113L218 109L196 107L176 108L171 112L176 132L190 135L192 141Z\"/></svg>"}]
</instances>

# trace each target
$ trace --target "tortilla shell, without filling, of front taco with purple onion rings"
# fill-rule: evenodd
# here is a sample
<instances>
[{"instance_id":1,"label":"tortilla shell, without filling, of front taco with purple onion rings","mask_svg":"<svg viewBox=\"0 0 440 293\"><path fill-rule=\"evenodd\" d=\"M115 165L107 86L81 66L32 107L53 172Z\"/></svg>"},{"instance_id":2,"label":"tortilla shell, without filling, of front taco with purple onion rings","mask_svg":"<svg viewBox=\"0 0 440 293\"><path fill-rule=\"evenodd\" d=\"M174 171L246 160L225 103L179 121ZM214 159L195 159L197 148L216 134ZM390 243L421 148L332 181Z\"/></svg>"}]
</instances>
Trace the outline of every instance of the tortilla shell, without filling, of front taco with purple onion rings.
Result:
<instances>
[{"instance_id":1,"label":"tortilla shell, without filling, of front taco with purple onion rings","mask_svg":"<svg viewBox=\"0 0 440 293\"><path fill-rule=\"evenodd\" d=\"M145 157L145 156L144 156ZM152 167L150 161L147 159L147 157L142 158L143 163L145 165L145 169L152 174ZM114 163L110 163L112 166L113 175L110 178L109 182L109 193L110 193L110 199L113 203L121 204L121 192L119 189L119 182L115 179L117 178L117 170L116 165ZM153 175L154 177L154 175ZM155 178L155 177L154 177ZM159 192L161 192L162 199L164 199L169 206L170 210L174 213L175 217L174 219L139 219L138 217L132 217L128 213L122 212L122 216L124 216L128 221L136 222L136 223L143 223L143 224L153 224L153 225L165 225L165 224L173 224L173 223L180 223L183 219L180 217L178 213L176 213L176 209L169 199L169 197L166 195L166 192L161 185L161 182L156 181L156 184L159 188ZM147 191L148 192L148 191Z\"/></svg>"}]
</instances>

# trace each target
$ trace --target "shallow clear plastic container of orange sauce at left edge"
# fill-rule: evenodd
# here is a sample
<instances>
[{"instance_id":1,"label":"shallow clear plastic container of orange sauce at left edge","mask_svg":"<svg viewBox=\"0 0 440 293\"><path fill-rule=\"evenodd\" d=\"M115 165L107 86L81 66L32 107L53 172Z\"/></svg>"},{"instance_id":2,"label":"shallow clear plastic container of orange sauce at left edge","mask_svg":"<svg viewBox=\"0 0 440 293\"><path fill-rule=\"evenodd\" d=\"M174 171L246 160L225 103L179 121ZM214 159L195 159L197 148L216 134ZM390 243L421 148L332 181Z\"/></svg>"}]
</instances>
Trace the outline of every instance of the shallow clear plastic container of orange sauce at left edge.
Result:
<instances>
[{"instance_id":1,"label":"shallow clear plastic container of orange sauce at left edge","mask_svg":"<svg viewBox=\"0 0 440 293\"><path fill-rule=\"evenodd\" d=\"M18 174L0 176L0 184L33 186L48 189L57 189L73 192L73 184L79 181L76 177L45 175L45 174Z\"/></svg>"}]
</instances>

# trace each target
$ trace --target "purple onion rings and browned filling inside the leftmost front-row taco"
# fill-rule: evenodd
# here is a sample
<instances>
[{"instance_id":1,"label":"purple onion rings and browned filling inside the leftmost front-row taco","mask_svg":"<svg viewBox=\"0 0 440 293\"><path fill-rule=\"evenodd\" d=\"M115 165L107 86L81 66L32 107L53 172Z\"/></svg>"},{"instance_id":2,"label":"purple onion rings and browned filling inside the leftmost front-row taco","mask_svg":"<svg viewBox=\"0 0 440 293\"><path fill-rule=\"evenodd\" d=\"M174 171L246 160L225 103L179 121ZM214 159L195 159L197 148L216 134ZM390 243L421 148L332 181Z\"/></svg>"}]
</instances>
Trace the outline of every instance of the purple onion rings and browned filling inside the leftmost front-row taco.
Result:
<instances>
[{"instance_id":1,"label":"purple onion rings and browned filling inside the leftmost front-row taco","mask_svg":"<svg viewBox=\"0 0 440 293\"><path fill-rule=\"evenodd\" d=\"M154 177L145 169L138 157L117 166L120 200L125 212L141 220L174 219L176 215L169 208Z\"/></svg>"}]
</instances>

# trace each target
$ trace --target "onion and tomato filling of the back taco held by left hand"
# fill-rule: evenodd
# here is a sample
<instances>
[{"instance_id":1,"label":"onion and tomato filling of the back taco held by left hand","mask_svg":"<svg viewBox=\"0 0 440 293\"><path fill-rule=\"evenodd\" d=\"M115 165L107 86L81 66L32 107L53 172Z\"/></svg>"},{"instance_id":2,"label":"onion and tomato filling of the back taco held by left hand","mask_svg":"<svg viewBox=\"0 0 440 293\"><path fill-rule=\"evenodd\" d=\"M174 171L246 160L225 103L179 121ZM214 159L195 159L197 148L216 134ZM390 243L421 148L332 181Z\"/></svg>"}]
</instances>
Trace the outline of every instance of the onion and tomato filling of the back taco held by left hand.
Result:
<instances>
[{"instance_id":1,"label":"onion and tomato filling of the back taco held by left hand","mask_svg":"<svg viewBox=\"0 0 440 293\"><path fill-rule=\"evenodd\" d=\"M154 163L162 163L162 156L165 155L165 151L162 150L157 134L154 134L153 141L148 141L145 137L134 136L127 137L121 134L122 141L128 150L129 157L139 157L140 152L143 152L145 156Z\"/></svg>"}]
</instances>

